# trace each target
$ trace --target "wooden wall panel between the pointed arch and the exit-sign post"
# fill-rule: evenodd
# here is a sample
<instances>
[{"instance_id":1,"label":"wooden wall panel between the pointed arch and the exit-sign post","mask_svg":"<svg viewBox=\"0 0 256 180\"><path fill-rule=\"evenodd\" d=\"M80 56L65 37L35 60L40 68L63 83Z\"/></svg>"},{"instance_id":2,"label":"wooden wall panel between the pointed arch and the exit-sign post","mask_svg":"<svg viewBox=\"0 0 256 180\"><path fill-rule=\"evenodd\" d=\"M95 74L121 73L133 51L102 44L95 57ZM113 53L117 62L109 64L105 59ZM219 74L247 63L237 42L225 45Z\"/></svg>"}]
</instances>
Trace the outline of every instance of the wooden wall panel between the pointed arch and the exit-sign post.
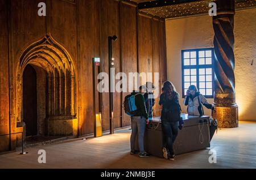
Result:
<instances>
[{"instance_id":1,"label":"wooden wall panel between the pointed arch and the exit-sign post","mask_svg":"<svg viewBox=\"0 0 256 180\"><path fill-rule=\"evenodd\" d=\"M92 58L100 57L100 0L79 1L77 9L79 54L79 131L93 132L93 73ZM86 70L86 71L85 71Z\"/></svg>"}]
</instances>

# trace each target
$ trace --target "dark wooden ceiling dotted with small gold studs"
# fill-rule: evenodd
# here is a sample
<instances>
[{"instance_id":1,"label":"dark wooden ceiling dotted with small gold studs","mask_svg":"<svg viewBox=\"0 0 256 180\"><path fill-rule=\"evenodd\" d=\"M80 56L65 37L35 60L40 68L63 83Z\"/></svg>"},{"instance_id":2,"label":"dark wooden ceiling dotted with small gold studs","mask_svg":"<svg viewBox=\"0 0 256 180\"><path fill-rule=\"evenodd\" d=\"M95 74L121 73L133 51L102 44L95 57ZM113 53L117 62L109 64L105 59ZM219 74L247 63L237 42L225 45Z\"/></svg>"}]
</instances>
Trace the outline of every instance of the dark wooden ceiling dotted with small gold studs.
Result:
<instances>
[{"instance_id":1,"label":"dark wooden ceiling dotted with small gold studs","mask_svg":"<svg viewBox=\"0 0 256 180\"><path fill-rule=\"evenodd\" d=\"M179 18L183 16L192 16L192 15L201 15L207 14L210 7L209 3L213 2L214 0L203 0L203 1L194 1L194 2L186 2L186 3L179 3L176 5L167 5L167 6L160 6L160 7L152 7L147 8L148 5L144 5L144 2L151 2L151 3L158 3L159 1L150 1L150 0L131 0L136 3L141 3L139 5L143 5L143 8L140 9L140 12L144 12L146 14L151 14L155 16L159 16L161 18ZM174 2L175 0L166 0L164 2ZM244 9L244 8L255 8L256 7L256 0L235 0L236 2L236 10ZM176 0L177 3L177 0Z\"/></svg>"}]
</instances>

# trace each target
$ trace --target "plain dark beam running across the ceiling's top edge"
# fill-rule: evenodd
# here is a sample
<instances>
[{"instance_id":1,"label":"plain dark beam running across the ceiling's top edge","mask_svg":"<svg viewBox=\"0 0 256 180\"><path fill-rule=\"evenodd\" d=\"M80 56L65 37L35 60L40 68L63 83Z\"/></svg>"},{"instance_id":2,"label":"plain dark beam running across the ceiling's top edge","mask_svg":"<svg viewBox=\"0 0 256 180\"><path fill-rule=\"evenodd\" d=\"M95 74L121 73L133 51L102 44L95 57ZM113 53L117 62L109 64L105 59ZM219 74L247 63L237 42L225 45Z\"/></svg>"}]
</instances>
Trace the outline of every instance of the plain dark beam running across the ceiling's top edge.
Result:
<instances>
[{"instance_id":1,"label":"plain dark beam running across the ceiling's top edge","mask_svg":"<svg viewBox=\"0 0 256 180\"><path fill-rule=\"evenodd\" d=\"M189 2L196 2L196 1L203 1L203 0L158 0L158 1L150 1L150 2L141 2L141 3L138 3L138 8L139 10L142 10L144 8L179 5L182 3L189 3Z\"/></svg>"}]
</instances>

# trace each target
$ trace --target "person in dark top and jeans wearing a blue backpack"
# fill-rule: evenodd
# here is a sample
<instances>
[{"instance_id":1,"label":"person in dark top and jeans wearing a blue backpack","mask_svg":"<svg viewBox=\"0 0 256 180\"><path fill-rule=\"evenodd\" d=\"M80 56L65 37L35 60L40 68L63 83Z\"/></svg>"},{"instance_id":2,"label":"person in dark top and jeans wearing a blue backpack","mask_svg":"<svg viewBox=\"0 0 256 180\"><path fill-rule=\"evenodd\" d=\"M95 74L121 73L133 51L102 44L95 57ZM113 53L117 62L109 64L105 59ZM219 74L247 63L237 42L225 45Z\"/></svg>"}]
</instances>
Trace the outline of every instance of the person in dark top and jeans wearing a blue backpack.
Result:
<instances>
[{"instance_id":1,"label":"person in dark top and jeans wearing a blue backpack","mask_svg":"<svg viewBox=\"0 0 256 180\"><path fill-rule=\"evenodd\" d=\"M145 100L141 93L142 87L140 87L140 92L133 91L131 95L126 96L125 100L125 112L131 116L131 155L137 153L135 151L135 142L138 135L139 144L139 157L150 157L148 153L144 151L144 132L146 130L146 125L148 125L148 114L146 110ZM134 101L135 100L135 101ZM129 105L126 105L129 104ZM135 104L135 106L134 106ZM129 107L134 107L133 110Z\"/></svg>"}]
</instances>

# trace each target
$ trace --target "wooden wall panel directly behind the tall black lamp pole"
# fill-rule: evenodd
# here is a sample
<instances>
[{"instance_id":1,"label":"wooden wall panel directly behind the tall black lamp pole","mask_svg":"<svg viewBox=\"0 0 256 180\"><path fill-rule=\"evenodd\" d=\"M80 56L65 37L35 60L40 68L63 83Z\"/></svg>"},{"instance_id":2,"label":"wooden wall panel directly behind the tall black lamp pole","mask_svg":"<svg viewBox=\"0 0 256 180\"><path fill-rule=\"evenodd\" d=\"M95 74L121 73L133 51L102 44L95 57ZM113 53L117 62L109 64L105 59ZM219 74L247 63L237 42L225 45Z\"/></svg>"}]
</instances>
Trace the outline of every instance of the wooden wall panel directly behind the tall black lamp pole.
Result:
<instances>
[{"instance_id":1,"label":"wooden wall panel directly behind the tall black lamp pole","mask_svg":"<svg viewBox=\"0 0 256 180\"><path fill-rule=\"evenodd\" d=\"M113 0L101 1L101 61L102 72L109 72L108 37L116 35L117 41L113 41L113 58L115 58L115 73L121 69L120 61L120 31L119 31L119 2ZM109 93L103 93L102 97L103 131L109 129ZM106 103L105 103L106 102ZM121 94L113 93L114 127L121 127Z\"/></svg>"}]
</instances>

